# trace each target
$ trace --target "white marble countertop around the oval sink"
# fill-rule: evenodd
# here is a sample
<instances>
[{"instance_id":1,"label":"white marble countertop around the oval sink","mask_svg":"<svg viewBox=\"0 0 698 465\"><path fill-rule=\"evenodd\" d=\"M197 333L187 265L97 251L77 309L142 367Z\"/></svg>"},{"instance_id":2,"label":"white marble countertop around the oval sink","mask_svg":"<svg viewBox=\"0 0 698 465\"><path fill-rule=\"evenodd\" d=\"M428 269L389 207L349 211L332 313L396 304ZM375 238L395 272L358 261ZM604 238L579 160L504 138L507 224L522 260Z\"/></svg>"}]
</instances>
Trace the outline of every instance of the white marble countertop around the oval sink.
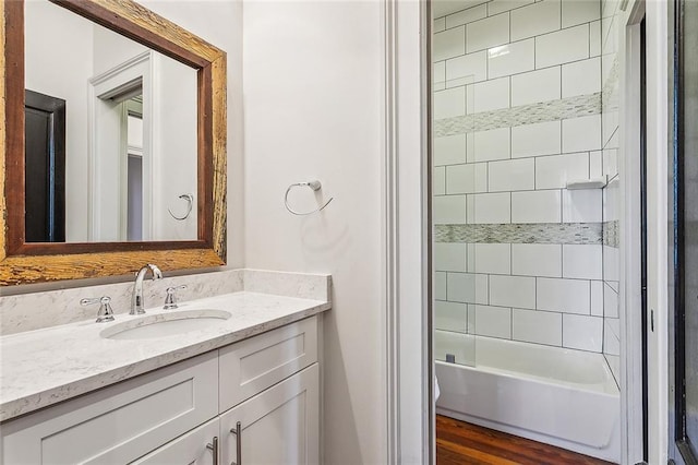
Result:
<instances>
[{"instance_id":1,"label":"white marble countertop around the oval sink","mask_svg":"<svg viewBox=\"0 0 698 465\"><path fill-rule=\"evenodd\" d=\"M2 336L0 421L302 320L330 306L323 300L239 291L180 303L177 310L146 310L145 317L203 309L232 314L215 325L171 336L111 339L100 335L144 315L117 315L109 323L93 319Z\"/></svg>"}]
</instances>

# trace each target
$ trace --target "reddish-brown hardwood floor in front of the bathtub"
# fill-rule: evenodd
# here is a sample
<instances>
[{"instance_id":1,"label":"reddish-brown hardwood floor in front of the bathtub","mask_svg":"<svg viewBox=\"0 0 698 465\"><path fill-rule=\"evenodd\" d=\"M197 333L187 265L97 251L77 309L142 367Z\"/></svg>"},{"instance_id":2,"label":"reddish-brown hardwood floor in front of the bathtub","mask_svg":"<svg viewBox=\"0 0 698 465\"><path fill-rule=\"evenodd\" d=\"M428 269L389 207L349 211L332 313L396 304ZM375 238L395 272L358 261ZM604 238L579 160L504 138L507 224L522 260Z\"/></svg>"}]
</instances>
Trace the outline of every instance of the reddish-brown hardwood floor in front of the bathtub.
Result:
<instances>
[{"instance_id":1,"label":"reddish-brown hardwood floor in front of the bathtub","mask_svg":"<svg viewBox=\"0 0 698 465\"><path fill-rule=\"evenodd\" d=\"M436 465L607 465L587 455L436 416Z\"/></svg>"}]
</instances>

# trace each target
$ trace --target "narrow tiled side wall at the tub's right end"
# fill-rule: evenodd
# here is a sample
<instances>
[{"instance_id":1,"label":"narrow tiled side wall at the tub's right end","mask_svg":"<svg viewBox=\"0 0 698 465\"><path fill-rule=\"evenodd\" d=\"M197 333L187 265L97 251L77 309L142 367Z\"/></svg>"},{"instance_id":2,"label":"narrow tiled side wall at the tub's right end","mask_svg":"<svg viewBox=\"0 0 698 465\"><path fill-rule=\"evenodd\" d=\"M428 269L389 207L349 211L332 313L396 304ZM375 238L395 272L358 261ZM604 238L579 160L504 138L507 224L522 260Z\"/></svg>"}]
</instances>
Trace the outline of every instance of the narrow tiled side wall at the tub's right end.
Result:
<instances>
[{"instance_id":1,"label":"narrow tiled side wall at the tub's right end","mask_svg":"<svg viewBox=\"0 0 698 465\"><path fill-rule=\"evenodd\" d=\"M613 371L617 383L621 382L621 320L619 320L619 227L621 196L618 177L618 102L619 68L618 40L622 14L617 0L601 2L601 79L602 92L602 142L603 171L609 177L609 184L603 189L603 300L604 300L604 337L603 354Z\"/></svg>"}]
</instances>

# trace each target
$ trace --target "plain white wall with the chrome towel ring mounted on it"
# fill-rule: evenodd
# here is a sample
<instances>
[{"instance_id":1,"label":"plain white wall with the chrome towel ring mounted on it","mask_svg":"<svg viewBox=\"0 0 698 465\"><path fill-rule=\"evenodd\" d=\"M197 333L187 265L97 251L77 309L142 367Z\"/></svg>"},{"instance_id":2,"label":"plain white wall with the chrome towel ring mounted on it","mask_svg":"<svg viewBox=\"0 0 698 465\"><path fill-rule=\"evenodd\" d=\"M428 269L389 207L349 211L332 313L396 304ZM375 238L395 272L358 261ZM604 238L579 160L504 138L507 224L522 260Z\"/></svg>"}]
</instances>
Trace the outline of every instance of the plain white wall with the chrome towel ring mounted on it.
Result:
<instances>
[{"instance_id":1,"label":"plain white wall with the chrome towel ring mounted on it","mask_svg":"<svg viewBox=\"0 0 698 465\"><path fill-rule=\"evenodd\" d=\"M328 464L386 462L381 10L353 1L244 4L245 265L333 275ZM333 203L320 215L288 213L286 188L314 178ZM292 195L296 207L314 205L304 193Z\"/></svg>"}]
</instances>

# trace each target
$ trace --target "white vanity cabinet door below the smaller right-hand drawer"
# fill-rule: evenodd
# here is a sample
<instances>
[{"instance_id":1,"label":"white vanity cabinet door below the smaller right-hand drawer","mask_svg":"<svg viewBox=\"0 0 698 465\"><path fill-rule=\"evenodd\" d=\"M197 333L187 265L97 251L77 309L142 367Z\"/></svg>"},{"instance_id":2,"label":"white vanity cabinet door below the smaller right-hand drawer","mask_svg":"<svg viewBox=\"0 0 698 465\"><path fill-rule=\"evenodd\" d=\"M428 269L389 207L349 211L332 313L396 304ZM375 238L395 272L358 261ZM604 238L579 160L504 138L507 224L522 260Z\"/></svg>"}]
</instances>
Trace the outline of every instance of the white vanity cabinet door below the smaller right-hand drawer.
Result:
<instances>
[{"instance_id":1,"label":"white vanity cabinet door below the smaller right-hand drawer","mask_svg":"<svg viewBox=\"0 0 698 465\"><path fill-rule=\"evenodd\" d=\"M313 363L221 415L221 464L317 464L318 391L318 368ZM231 432L238 422L240 434Z\"/></svg>"}]
</instances>

